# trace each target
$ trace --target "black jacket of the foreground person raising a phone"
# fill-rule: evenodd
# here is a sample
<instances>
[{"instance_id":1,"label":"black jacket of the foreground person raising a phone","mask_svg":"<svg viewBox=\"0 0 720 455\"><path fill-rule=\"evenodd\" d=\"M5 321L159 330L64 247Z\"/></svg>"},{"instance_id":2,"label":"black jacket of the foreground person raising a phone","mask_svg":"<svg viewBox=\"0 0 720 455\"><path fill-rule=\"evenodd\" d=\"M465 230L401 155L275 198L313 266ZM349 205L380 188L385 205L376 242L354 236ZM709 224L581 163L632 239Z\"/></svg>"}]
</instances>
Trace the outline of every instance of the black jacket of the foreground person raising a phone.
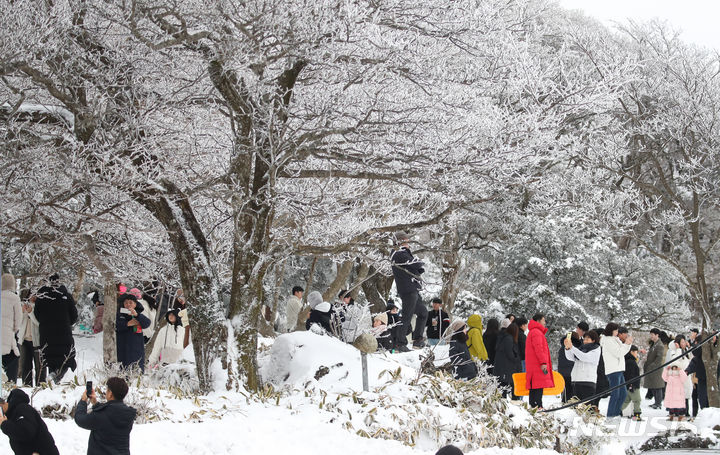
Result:
<instances>
[{"instance_id":1,"label":"black jacket of the foreground person raising a phone","mask_svg":"<svg viewBox=\"0 0 720 455\"><path fill-rule=\"evenodd\" d=\"M96 404L89 414L81 401L75 410L75 423L90 430L87 455L130 455L133 422L135 409L122 401Z\"/></svg>"}]
</instances>

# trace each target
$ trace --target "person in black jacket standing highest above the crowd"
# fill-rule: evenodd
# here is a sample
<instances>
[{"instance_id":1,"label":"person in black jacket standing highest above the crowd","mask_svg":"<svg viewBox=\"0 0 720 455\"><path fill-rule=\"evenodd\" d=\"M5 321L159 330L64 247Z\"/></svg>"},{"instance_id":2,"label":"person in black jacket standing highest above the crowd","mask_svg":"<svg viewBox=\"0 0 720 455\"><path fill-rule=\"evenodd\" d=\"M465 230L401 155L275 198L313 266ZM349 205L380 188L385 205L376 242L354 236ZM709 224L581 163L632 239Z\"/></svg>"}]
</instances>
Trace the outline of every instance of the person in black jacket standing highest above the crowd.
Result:
<instances>
[{"instance_id":1,"label":"person in black jacket standing highest above the crowd","mask_svg":"<svg viewBox=\"0 0 720 455\"><path fill-rule=\"evenodd\" d=\"M408 352L407 335L412 332L413 346L422 348L425 346L423 332L427 321L428 311L420 299L422 289L421 275L425 272L423 263L413 256L410 251L410 237L404 232L395 234L395 240L400 246L390 256L392 272L395 277L397 293L402 301L402 331L404 337L396 340L396 348L400 352ZM412 330L412 317L415 319L415 330Z\"/></svg>"}]
</instances>

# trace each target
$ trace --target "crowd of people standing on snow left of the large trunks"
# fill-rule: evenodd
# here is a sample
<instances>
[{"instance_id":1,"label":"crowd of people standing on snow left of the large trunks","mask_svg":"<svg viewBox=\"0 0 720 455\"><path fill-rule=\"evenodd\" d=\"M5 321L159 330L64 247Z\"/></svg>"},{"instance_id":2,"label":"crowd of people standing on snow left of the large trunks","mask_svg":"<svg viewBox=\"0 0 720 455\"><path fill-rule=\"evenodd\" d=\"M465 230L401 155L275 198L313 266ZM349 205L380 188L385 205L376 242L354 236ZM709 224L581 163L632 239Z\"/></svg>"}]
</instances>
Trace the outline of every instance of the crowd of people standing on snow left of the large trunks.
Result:
<instances>
[{"instance_id":1,"label":"crowd of people standing on snow left of the large trunks","mask_svg":"<svg viewBox=\"0 0 720 455\"><path fill-rule=\"evenodd\" d=\"M156 289L156 288L155 288ZM145 348L155 342L150 367L177 362L190 342L190 324L182 290L172 297L117 284L115 318L117 362L145 370ZM103 331L104 299L99 291L88 294L95 306L94 333ZM17 281L2 275L2 366L8 381L25 386L60 380L75 371L73 326L78 309L72 294L51 275L36 291L17 293ZM163 316L160 319L160 315ZM157 332L157 333L156 333Z\"/></svg>"}]
</instances>

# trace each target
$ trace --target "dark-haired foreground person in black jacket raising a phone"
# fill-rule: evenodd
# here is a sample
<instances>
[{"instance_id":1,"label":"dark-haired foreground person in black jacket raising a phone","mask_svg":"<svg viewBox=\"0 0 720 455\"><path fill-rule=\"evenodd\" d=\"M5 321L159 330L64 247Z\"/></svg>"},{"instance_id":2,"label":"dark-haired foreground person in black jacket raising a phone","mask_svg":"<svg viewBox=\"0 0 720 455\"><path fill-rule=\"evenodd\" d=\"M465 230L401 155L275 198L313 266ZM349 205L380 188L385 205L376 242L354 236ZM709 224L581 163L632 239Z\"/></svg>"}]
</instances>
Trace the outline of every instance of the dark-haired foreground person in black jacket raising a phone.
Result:
<instances>
[{"instance_id":1,"label":"dark-haired foreground person in black jacket raising a phone","mask_svg":"<svg viewBox=\"0 0 720 455\"><path fill-rule=\"evenodd\" d=\"M142 336L142 332L141 332ZM122 378L108 379L105 398L107 402L97 403L92 383L75 410L75 423L90 430L88 439L88 455L130 455L130 431L135 422L134 408L123 403L128 393L128 385ZM87 412L87 402L93 404L92 412Z\"/></svg>"}]
</instances>

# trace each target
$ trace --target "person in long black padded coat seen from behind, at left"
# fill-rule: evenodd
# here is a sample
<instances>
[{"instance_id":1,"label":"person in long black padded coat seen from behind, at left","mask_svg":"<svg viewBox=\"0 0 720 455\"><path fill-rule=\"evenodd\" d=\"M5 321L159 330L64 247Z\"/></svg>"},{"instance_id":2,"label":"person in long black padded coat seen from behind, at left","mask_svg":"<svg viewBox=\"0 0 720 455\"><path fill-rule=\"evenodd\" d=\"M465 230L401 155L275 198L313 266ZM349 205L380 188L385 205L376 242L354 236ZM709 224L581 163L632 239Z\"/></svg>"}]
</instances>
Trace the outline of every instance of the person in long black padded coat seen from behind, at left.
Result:
<instances>
[{"instance_id":1,"label":"person in long black padded coat seen from behind, at left","mask_svg":"<svg viewBox=\"0 0 720 455\"><path fill-rule=\"evenodd\" d=\"M40 350L43 365L50 375L62 379L68 368L75 371L75 341L72 326L77 322L75 300L60 284L57 274L46 286L38 289L33 310L40 329Z\"/></svg>"}]
</instances>

